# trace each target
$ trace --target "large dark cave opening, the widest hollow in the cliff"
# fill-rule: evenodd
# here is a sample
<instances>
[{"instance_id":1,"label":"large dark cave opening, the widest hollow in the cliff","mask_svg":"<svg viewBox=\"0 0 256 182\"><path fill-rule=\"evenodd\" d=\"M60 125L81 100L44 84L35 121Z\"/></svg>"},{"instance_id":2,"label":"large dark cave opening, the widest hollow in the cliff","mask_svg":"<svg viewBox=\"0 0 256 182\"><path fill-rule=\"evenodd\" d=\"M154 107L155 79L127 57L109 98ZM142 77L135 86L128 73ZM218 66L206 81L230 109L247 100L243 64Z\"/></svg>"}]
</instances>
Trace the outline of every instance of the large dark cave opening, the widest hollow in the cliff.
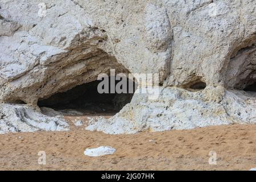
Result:
<instances>
[{"instance_id":1,"label":"large dark cave opening, the widest hollow in the cliff","mask_svg":"<svg viewBox=\"0 0 256 182\"><path fill-rule=\"evenodd\" d=\"M117 93L114 91L113 93L113 91L110 92L111 77L108 77L108 79L108 93L98 92L98 84L102 81L96 80L75 86L66 92L56 93L47 99L41 99L38 101L38 106L42 112L46 109L53 109L62 113L61 115L114 115L123 106L130 103L136 85L134 81L127 78L127 87L124 88L127 89L126 92ZM114 84L117 85L118 82L120 81L114 81ZM133 90L132 93L131 89Z\"/></svg>"}]
</instances>

